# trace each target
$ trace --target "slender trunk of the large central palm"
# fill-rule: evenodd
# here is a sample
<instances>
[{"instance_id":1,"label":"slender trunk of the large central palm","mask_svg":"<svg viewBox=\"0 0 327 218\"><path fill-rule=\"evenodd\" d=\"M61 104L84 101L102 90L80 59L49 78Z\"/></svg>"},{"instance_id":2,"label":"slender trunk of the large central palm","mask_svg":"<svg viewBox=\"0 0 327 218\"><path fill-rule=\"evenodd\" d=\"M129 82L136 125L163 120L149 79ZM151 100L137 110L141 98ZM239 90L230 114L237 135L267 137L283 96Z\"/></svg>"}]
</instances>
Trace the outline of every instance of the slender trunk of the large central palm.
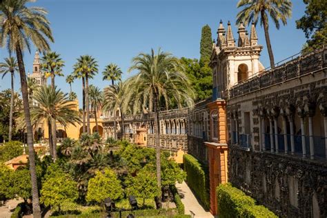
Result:
<instances>
[{"instance_id":1,"label":"slender trunk of the large central palm","mask_svg":"<svg viewBox=\"0 0 327 218\"><path fill-rule=\"evenodd\" d=\"M154 95L154 110L155 110L155 148L156 148L156 166L157 166L157 184L159 188L158 201L161 203L161 157L160 157L160 131L159 131L159 108L158 96Z\"/></svg>"}]
</instances>

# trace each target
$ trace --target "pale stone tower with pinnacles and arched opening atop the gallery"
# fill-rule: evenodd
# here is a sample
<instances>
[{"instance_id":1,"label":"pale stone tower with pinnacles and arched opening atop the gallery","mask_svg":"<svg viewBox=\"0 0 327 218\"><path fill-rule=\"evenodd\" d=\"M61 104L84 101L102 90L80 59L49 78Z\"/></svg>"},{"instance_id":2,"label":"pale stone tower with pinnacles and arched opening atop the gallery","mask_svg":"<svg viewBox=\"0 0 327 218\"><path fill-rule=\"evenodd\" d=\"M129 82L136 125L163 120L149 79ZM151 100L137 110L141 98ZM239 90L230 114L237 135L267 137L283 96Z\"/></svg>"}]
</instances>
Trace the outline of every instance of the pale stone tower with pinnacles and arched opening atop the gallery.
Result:
<instances>
[{"instance_id":1,"label":"pale stone tower with pinnacles and arched opening atop the gallery","mask_svg":"<svg viewBox=\"0 0 327 218\"><path fill-rule=\"evenodd\" d=\"M243 23L238 28L237 43L228 21L227 33L220 21L217 43L214 45L210 67L213 74L212 100L228 97L228 90L256 75L264 66L259 62L262 46L258 45L257 31L252 23L250 39Z\"/></svg>"}]
</instances>

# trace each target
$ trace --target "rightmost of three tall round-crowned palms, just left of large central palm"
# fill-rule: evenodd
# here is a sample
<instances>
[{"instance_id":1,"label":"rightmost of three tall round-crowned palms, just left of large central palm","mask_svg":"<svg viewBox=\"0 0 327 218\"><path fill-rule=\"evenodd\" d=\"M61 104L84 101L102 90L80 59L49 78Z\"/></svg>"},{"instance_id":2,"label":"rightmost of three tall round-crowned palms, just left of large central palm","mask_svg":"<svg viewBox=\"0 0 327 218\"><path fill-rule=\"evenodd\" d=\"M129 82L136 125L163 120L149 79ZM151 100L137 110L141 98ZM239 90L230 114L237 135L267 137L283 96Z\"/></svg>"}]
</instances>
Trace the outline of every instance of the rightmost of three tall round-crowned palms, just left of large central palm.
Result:
<instances>
[{"instance_id":1,"label":"rightmost of three tall round-crowned palms, just left of large central palm","mask_svg":"<svg viewBox=\"0 0 327 218\"><path fill-rule=\"evenodd\" d=\"M121 75L123 72L121 69L115 64L115 63L110 63L104 71L102 72L102 80L111 80L111 85L114 86L115 81L121 80ZM116 125L116 111L113 111L114 115L114 138L117 139L117 125Z\"/></svg>"}]
</instances>

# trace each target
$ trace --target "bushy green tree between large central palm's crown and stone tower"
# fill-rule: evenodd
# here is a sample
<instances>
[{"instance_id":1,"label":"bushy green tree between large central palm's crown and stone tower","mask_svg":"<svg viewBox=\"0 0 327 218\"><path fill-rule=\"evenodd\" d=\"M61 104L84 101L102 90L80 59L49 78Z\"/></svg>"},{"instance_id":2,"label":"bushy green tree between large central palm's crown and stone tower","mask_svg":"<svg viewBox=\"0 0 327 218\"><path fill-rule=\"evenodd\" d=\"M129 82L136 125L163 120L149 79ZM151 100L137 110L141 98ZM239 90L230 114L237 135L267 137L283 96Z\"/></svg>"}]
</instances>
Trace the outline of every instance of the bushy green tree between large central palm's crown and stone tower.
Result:
<instances>
[{"instance_id":1,"label":"bushy green tree between large central palm's crown and stone tower","mask_svg":"<svg viewBox=\"0 0 327 218\"><path fill-rule=\"evenodd\" d=\"M181 58L186 68L186 75L195 90L195 101L201 101L212 95L212 70L208 63L199 63L197 59Z\"/></svg>"}]
</instances>

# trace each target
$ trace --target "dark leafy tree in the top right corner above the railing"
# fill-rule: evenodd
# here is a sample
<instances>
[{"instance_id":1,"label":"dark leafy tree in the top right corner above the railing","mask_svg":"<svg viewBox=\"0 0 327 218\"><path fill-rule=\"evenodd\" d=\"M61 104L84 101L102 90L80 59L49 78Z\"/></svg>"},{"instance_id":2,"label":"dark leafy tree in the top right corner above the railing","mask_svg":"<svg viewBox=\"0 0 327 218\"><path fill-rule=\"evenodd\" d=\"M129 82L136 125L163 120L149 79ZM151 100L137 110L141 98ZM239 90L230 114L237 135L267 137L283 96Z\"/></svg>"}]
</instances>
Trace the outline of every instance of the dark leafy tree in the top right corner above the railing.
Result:
<instances>
[{"instance_id":1,"label":"dark leafy tree in the top right corner above the railing","mask_svg":"<svg viewBox=\"0 0 327 218\"><path fill-rule=\"evenodd\" d=\"M297 20L297 28L304 31L310 51L327 43L327 2L324 0L304 0L306 12Z\"/></svg>"}]
</instances>

